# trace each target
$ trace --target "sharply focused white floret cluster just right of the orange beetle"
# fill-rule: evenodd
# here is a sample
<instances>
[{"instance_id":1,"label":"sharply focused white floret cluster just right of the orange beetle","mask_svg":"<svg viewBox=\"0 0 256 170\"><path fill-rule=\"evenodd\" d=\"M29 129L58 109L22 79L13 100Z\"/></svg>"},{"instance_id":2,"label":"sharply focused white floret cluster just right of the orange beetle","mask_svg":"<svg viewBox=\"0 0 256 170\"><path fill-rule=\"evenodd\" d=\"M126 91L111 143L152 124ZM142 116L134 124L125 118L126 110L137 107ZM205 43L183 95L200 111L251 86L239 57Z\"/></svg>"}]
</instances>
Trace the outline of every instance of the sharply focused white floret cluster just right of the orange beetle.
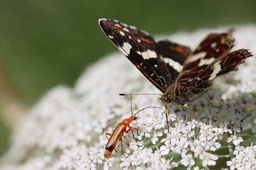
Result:
<instances>
[{"instance_id":1,"label":"sharply focused white floret cluster just right of the orange beetle","mask_svg":"<svg viewBox=\"0 0 256 170\"><path fill-rule=\"evenodd\" d=\"M199 131L196 134L196 131ZM228 129L222 127L213 127L211 124L198 122L196 120L186 123L179 121L175 127L171 127L171 132L161 142L164 145L160 147L161 154L169 154L170 151L181 154L180 164L192 166L195 164L195 158L202 161L203 166L215 165L218 159L216 154L207 151L215 151L221 147L220 140L223 133Z\"/></svg>"}]
</instances>

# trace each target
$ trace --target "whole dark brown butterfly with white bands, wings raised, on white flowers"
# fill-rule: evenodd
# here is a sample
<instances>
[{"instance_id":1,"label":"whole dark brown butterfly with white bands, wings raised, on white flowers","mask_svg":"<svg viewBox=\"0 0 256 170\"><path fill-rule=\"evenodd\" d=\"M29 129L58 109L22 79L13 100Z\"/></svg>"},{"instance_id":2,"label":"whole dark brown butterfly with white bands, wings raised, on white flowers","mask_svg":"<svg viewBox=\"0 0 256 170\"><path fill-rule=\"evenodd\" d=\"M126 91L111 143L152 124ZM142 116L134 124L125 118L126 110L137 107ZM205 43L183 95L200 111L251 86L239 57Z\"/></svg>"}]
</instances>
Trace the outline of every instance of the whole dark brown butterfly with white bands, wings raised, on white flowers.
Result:
<instances>
[{"instance_id":1,"label":"whole dark brown butterfly with white bands, wings raised, on white flowers","mask_svg":"<svg viewBox=\"0 0 256 170\"><path fill-rule=\"evenodd\" d=\"M117 20L99 19L99 25L110 41L163 92L161 100L165 103L187 106L202 96L217 76L236 70L252 56L247 49L230 52L234 46L231 32L210 33L192 51L170 40L156 41L148 32Z\"/></svg>"}]
</instances>

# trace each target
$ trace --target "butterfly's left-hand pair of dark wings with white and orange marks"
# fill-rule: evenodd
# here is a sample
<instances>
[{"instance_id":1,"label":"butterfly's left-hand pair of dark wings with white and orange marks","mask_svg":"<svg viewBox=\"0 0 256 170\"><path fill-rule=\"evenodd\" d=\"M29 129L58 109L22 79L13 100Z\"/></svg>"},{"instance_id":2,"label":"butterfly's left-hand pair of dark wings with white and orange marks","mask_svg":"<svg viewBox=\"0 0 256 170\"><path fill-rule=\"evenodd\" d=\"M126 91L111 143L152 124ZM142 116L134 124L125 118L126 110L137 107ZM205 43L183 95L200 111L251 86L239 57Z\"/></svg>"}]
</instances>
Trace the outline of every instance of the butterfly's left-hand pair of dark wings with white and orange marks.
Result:
<instances>
[{"instance_id":1,"label":"butterfly's left-hand pair of dark wings with white and orange marks","mask_svg":"<svg viewBox=\"0 0 256 170\"><path fill-rule=\"evenodd\" d=\"M175 81L191 53L189 47L169 40L155 42L149 33L117 20L99 19L99 25L113 44L162 92Z\"/></svg>"}]
</instances>

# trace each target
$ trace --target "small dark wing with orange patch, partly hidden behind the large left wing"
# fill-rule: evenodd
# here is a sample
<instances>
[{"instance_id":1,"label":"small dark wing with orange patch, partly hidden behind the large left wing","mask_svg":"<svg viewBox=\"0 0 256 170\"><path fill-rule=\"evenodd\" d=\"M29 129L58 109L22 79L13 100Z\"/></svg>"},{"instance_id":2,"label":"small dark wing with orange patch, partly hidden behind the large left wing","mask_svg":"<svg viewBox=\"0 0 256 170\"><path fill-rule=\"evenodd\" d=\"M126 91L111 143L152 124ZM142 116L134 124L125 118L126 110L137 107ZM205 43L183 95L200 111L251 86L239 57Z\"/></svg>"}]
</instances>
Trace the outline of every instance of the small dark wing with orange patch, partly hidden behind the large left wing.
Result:
<instances>
[{"instance_id":1,"label":"small dark wing with orange patch, partly hidden behind the large left wing","mask_svg":"<svg viewBox=\"0 0 256 170\"><path fill-rule=\"evenodd\" d=\"M182 70L182 65L191 53L187 46L183 46L169 40L157 42L160 66L165 76L167 86L173 84L178 74Z\"/></svg>"}]
</instances>

